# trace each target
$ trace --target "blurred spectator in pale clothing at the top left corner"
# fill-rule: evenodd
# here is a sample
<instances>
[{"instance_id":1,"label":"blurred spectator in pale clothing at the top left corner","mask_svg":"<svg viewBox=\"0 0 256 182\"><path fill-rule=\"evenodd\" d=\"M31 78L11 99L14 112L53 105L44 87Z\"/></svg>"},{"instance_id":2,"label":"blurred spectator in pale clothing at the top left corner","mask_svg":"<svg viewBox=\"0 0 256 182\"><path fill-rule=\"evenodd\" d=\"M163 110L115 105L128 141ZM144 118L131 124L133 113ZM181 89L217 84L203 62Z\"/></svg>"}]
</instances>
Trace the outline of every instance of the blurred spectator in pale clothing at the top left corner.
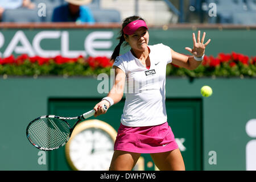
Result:
<instances>
[{"instance_id":1,"label":"blurred spectator in pale clothing at the top left corner","mask_svg":"<svg viewBox=\"0 0 256 182\"><path fill-rule=\"evenodd\" d=\"M2 20L2 14L5 10L18 9L20 7L34 9L35 4L30 0L1 0L0 1L0 21Z\"/></svg>"}]
</instances>

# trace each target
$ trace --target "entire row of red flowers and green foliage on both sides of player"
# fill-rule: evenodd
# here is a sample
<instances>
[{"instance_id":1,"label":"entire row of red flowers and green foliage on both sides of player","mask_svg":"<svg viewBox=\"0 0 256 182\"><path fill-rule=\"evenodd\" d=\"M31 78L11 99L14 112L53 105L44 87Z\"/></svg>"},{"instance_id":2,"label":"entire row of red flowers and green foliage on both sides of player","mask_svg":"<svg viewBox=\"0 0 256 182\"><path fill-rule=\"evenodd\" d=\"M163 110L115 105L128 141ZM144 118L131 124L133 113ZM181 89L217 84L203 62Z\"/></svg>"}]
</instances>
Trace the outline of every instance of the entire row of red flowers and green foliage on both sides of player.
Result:
<instances>
[{"instance_id":1,"label":"entire row of red flowers and green foliage on both sides of player","mask_svg":"<svg viewBox=\"0 0 256 182\"><path fill-rule=\"evenodd\" d=\"M94 76L99 73L110 74L112 64L108 57L53 58L13 55L0 59L2 76ZM188 77L256 77L256 56L241 53L219 53L217 57L205 56L202 64L195 70L167 65L168 76Z\"/></svg>"}]
</instances>

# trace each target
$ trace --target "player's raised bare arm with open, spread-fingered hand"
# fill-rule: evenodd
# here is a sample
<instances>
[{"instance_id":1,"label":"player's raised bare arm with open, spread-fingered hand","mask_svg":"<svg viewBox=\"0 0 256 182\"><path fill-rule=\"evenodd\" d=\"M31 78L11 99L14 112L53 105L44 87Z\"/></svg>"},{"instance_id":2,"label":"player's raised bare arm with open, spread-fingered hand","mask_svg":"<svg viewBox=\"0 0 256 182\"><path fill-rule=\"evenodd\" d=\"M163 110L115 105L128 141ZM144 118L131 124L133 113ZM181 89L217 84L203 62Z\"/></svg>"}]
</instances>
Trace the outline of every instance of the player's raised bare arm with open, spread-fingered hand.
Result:
<instances>
[{"instance_id":1,"label":"player's raised bare arm with open, spread-fingered hand","mask_svg":"<svg viewBox=\"0 0 256 182\"><path fill-rule=\"evenodd\" d=\"M204 55L205 47L210 43L210 39L209 39L204 44L205 32L203 34L202 39L201 40L200 39L201 38L200 38L200 30L199 30L197 32L197 40L196 40L195 33L193 33L193 49L189 47L185 47L185 49L190 53L192 53L193 56L186 56L181 53L175 52L174 50L171 49L172 63L179 67L183 67L189 70L196 69L201 64L201 61L195 60L195 57L200 59L200 57Z\"/></svg>"}]
</instances>

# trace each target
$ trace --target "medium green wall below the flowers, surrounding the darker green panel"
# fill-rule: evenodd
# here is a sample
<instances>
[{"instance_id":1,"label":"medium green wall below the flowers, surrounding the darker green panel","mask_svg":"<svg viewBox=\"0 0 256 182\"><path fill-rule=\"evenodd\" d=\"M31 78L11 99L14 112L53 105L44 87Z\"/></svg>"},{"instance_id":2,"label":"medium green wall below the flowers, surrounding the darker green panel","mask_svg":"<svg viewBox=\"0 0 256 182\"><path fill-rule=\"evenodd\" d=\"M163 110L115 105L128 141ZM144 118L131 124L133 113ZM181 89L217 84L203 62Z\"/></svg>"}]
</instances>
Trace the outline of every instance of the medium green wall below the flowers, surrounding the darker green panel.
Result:
<instances>
[{"instance_id":1,"label":"medium green wall below the flowers, surrounding the darker green panel","mask_svg":"<svg viewBox=\"0 0 256 182\"><path fill-rule=\"evenodd\" d=\"M50 98L93 98L100 101L106 94L97 92L99 82L97 78L92 77L1 78L0 169L48 170L50 163L38 164L39 150L26 138L28 122L48 113ZM212 87L211 97L201 96L200 88L203 85ZM196 155L201 155L203 170L245 170L245 146L254 139L246 134L245 126L247 121L256 118L255 79L200 78L190 82L187 78L167 77L166 98L167 101L201 100L203 133L196 134L203 136L202 153ZM168 112L172 107L173 105L167 104ZM168 114L168 117L170 122L172 116ZM117 119L113 122L116 129L120 121ZM176 126L172 127L175 133ZM184 125L184 132L189 127L192 127L191 123ZM175 135L180 137L179 131ZM208 163L210 151L216 151L216 165ZM191 165L195 163L192 162Z\"/></svg>"}]
</instances>

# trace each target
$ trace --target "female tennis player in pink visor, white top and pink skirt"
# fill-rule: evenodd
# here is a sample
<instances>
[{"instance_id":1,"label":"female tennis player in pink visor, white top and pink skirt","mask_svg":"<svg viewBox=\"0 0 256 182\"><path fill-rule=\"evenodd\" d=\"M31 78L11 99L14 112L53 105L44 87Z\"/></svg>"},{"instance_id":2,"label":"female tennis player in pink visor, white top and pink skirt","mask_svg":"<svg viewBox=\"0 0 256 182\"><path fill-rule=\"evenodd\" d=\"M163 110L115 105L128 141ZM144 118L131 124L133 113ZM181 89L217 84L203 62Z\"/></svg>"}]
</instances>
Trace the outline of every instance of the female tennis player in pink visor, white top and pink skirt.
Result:
<instances>
[{"instance_id":1,"label":"female tennis player in pink visor, white top and pink skirt","mask_svg":"<svg viewBox=\"0 0 256 182\"><path fill-rule=\"evenodd\" d=\"M165 105L166 65L173 63L183 68L197 68L204 57L205 32L197 39L193 33L193 48L186 47L192 56L177 53L168 46L148 46L146 22L139 16L123 20L119 44L111 59L114 61L115 79L107 97L96 106L95 116L105 114L101 105L112 106L123 96L127 84L125 106L114 144L110 170L131 170L141 154L150 154L160 170L185 170L183 158L167 122ZM119 56L126 42L129 52Z\"/></svg>"}]
</instances>

